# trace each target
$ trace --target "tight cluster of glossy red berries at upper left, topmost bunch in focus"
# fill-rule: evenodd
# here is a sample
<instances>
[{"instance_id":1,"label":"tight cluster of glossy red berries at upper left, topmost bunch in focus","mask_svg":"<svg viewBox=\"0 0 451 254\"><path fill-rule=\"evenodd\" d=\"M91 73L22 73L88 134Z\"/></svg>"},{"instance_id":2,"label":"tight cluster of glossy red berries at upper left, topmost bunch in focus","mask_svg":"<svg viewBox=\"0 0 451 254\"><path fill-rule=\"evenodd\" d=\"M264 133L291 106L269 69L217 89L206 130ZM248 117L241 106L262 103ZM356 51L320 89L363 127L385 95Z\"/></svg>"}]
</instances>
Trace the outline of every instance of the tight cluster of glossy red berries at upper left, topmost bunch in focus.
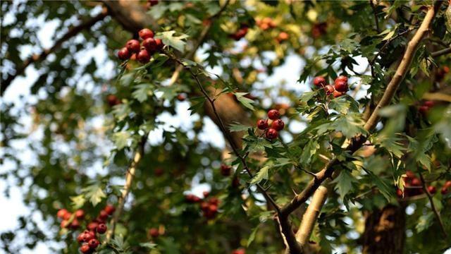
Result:
<instances>
[{"instance_id":1,"label":"tight cluster of glossy red berries at upper left, topmost bunch in focus","mask_svg":"<svg viewBox=\"0 0 451 254\"><path fill-rule=\"evenodd\" d=\"M163 42L160 39L154 39L154 32L148 28L144 28L138 32L142 43L139 40L129 40L125 43L125 47L119 50L118 58L125 61L132 59L140 63L148 63L150 55L163 49Z\"/></svg>"}]
</instances>

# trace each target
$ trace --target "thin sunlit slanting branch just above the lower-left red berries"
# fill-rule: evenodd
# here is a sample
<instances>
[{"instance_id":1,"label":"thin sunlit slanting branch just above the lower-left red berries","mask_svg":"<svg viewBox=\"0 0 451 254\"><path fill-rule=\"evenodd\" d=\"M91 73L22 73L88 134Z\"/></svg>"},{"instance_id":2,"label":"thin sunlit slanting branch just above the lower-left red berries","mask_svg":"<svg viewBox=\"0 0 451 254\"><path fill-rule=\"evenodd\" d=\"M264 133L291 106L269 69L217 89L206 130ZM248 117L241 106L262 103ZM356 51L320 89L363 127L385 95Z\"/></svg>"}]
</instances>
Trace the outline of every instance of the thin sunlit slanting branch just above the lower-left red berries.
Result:
<instances>
[{"instance_id":1,"label":"thin sunlit slanting branch just above the lower-left red berries","mask_svg":"<svg viewBox=\"0 0 451 254\"><path fill-rule=\"evenodd\" d=\"M127 169L127 173L125 174L125 185L122 191L121 198L119 198L118 205L116 207L116 212L111 218L109 230L106 232L106 243L108 243L111 237L114 235L114 230L116 229L116 223L122 215L125 200L127 200L128 193L130 193L130 188L132 186L132 181L135 178L135 171L137 164L141 161L142 155L144 154L144 146L147 142L147 135L145 134L142 137L142 140L137 148L135 155L133 156L132 162L130 162L130 167Z\"/></svg>"}]
</instances>

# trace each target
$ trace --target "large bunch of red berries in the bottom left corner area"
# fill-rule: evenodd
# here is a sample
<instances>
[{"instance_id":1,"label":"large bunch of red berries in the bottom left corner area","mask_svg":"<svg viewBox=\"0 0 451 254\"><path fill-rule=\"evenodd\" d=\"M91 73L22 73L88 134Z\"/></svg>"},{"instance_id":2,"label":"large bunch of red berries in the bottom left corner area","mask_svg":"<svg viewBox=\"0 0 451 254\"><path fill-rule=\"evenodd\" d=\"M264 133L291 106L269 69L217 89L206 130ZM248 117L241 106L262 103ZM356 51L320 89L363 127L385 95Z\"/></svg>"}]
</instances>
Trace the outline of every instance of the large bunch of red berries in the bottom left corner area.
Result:
<instances>
[{"instance_id":1,"label":"large bunch of red berries in the bottom left corner area","mask_svg":"<svg viewBox=\"0 0 451 254\"><path fill-rule=\"evenodd\" d=\"M97 234L104 234L106 232L106 219L113 214L115 208L112 205L106 205L104 210L101 210L99 216L86 226L86 230L80 233L77 237L78 243L81 243L80 251L82 253L93 253L99 246L100 242L97 239ZM68 212L66 209L58 210L56 213L58 218L63 219L61 227L70 229L78 229L80 227L80 220L85 217L85 211L77 210L74 213Z\"/></svg>"}]
</instances>

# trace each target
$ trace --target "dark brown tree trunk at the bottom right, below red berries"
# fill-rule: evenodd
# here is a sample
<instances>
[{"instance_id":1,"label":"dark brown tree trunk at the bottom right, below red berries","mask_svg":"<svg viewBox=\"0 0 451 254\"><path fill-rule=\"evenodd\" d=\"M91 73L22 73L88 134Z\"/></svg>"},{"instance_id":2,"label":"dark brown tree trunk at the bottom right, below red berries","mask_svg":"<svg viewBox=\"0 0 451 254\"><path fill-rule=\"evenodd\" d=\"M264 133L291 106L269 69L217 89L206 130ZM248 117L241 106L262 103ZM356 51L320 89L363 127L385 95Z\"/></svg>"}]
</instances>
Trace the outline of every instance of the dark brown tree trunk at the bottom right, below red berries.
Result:
<instances>
[{"instance_id":1,"label":"dark brown tree trunk at the bottom right, below red berries","mask_svg":"<svg viewBox=\"0 0 451 254\"><path fill-rule=\"evenodd\" d=\"M387 205L366 215L363 253L400 254L404 250L404 205Z\"/></svg>"}]
</instances>

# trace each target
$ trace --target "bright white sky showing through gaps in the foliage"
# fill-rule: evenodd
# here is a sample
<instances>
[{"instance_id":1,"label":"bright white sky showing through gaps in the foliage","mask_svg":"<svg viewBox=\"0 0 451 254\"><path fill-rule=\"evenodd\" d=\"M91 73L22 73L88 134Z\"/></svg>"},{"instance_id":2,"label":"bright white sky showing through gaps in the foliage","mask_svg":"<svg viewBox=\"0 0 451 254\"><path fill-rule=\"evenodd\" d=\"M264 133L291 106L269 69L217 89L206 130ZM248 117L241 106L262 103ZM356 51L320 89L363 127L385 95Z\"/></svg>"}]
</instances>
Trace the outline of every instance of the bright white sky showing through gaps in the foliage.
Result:
<instances>
[{"instance_id":1,"label":"bright white sky showing through gaps in the foliage","mask_svg":"<svg viewBox=\"0 0 451 254\"><path fill-rule=\"evenodd\" d=\"M8 17L6 15L5 22L13 22L13 20L8 20ZM48 22L44 23L39 21L39 18L37 20L39 23L39 31L37 32L37 37L39 42L43 45L43 47L48 48L53 45L53 41L50 39L53 35L56 28L58 27L57 22ZM75 40L77 40L75 38ZM243 44L245 44L245 41L242 40L240 42L237 42L237 47L242 47ZM29 54L32 52L36 52L39 49L35 49L32 47L23 47L22 49L22 58L25 59ZM204 58L203 52L206 50L206 47L199 50L198 55L199 58ZM325 51L327 49L324 49ZM94 57L95 56L95 57ZM91 59L97 61L98 66L102 67L102 73L106 73L106 76L112 78L114 75L114 68L115 63L108 60L107 56L107 50L104 44L99 43L96 47L91 49L85 49L78 53L78 61L80 65L83 65L85 63L89 63ZM268 58L271 58L271 54L268 54ZM359 63L359 66L356 66L355 71L358 73L361 73L365 71L367 66L366 59L362 59L361 57L357 57L357 62ZM283 66L279 66L275 69L273 75L270 77L267 77L266 74L260 73L259 75L261 80L265 80L264 86L270 87L271 85L277 85L280 83L286 83L286 87L290 90L294 90L296 92L299 92L301 94L304 91L309 90L309 85L306 84L299 84L297 83L297 80L299 78L299 75L302 71L302 68L304 67L305 63L302 59L297 56L297 54L289 54L287 56L287 59ZM221 69L220 68L213 68L209 69L208 71L212 73L216 73L218 75L221 75ZM34 83L34 81L39 77L39 73L34 68L34 66L29 66L25 70L25 75L19 76L15 80L13 80L13 83L11 83L10 87L8 87L8 90L6 90L6 93L4 97L1 98L1 103L8 103L13 102L16 104L17 108L24 107L24 102L37 102L37 97L30 95L30 85ZM350 82L356 82L357 80L350 80ZM94 84L87 82L85 86L87 89L89 89L90 86L93 86ZM364 87L362 90L359 91L359 94L357 97L362 97L366 94L366 87ZM24 101L25 100L25 101ZM179 102L176 107L176 115L172 116L171 114L161 114L158 118L159 121L163 122L163 126L159 128L159 130L154 131L151 135L149 135L150 140L149 143L151 144L157 144L161 142L161 133L163 132L163 129L170 129L171 126L181 127L185 130L189 130L192 127L193 121L197 120L199 118L198 115L190 116L190 111L187 109L190 107L189 102ZM25 124L25 130L30 130L31 127L31 119L28 116L24 116L21 119L21 122ZM94 125L101 126L103 122L96 121L93 123ZM297 129L303 128L302 123L290 123L289 128ZM1 135L1 134L0 134ZM218 138L220 137L220 138ZM205 142L212 143L211 140L215 140L212 145L216 145L217 147L224 147L225 140L222 138L221 131L219 131L218 127L208 118L205 118L205 128L203 133L200 135L200 139L204 140ZM36 139L39 140L40 135L39 131L32 133L29 137L30 140ZM289 141L289 140L287 140ZM15 147L24 149L26 143L25 142L18 142L13 144ZM0 151L0 155L2 155L2 152ZM30 151L23 151L23 159L24 161L32 164L35 160L35 157L33 157L32 153ZM13 167L13 164L5 163L3 165L0 165L0 173L4 171L8 171ZM97 170L101 171L101 166L97 167ZM9 185L15 186L16 184L13 182L12 178L8 178L6 181L8 181ZM195 181L195 180L194 180ZM26 186L26 184L25 184ZM25 204L22 202L23 199L23 189L19 188L17 186L11 188L11 196L7 198L3 195L4 189L6 188L6 184L3 179L0 180L0 192L2 193L0 195L0 205L1 207L8 207L8 209L0 209L0 234L4 231L14 230L18 226L17 218L20 215L23 216L32 216L32 218L35 220L35 222L38 223L39 227L41 229L47 229L49 230L49 236L52 234L56 234L56 231L54 229L50 229L45 222L42 221L42 217L40 216L39 212L30 212L28 211L28 207L25 206ZM24 187L26 188L26 187ZM202 196L202 191L209 190L209 186L206 184L194 184L194 188L192 189L192 193ZM52 231L53 230L53 231ZM26 236L21 236L25 238ZM20 244L20 243L18 243ZM49 247L58 248L61 247L60 243L56 242L46 242L46 243L39 243L37 247L34 250L27 250L24 248L21 250L20 253L37 253L37 254L47 254L51 253L51 250ZM3 250L0 250L0 254L4 253ZM447 254L450 254L451 251L447 251Z\"/></svg>"}]
</instances>

